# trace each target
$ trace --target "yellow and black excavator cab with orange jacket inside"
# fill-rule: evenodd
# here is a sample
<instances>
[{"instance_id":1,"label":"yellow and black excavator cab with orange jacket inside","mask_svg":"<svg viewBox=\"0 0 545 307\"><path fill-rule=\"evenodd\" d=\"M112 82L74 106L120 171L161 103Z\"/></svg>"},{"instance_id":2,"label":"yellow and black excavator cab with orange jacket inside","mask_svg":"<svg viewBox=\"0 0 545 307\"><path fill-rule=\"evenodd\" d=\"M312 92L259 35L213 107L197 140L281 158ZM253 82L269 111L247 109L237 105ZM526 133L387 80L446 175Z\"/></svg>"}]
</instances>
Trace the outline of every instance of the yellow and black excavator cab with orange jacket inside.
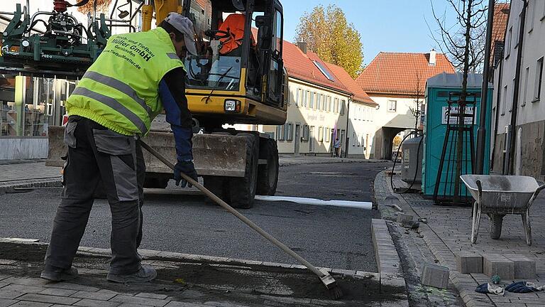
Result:
<instances>
[{"instance_id":1,"label":"yellow and black excavator cab with orange jacket inside","mask_svg":"<svg viewBox=\"0 0 545 307\"><path fill-rule=\"evenodd\" d=\"M202 126L283 124L287 75L277 0L187 0L199 55L188 55L186 94Z\"/></svg>"}]
</instances>

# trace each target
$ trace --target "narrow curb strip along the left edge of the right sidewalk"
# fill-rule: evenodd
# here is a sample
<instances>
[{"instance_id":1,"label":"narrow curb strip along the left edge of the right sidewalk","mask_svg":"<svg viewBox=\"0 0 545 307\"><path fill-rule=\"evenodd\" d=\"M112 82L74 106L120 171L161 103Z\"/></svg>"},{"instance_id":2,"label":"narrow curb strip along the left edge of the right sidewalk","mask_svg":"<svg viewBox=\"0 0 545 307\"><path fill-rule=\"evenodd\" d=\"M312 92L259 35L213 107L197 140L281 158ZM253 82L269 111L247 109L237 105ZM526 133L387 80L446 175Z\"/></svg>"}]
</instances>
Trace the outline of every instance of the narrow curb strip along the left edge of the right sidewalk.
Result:
<instances>
[{"instance_id":1,"label":"narrow curb strip along the left edge of the right sidewalk","mask_svg":"<svg viewBox=\"0 0 545 307\"><path fill-rule=\"evenodd\" d=\"M380 180L384 181L385 178L385 171L382 171L375 177L375 182ZM407 200L405 200L402 196L393 193L390 185L387 186L387 190L381 192L387 194L387 196L392 195L397 198L403 212L413 215L415 218L419 219L420 216L417 214L417 212L412 210L412 207L409 203L407 203ZM376 192L377 191L375 190L375 193ZM384 198L384 196L382 196L382 198ZM381 210L381 208L379 208L379 210ZM388 210L385 210L385 212L387 211ZM387 214L390 212L387 212ZM381 215L382 213L383 212L381 210ZM438 235L436 235L434 230L432 230L429 225L426 223L421 223L419 227L419 234L422 235L422 239L424 239L424 242L430 249L431 254L433 254L434 257L439 260L439 264L448 267L450 270L449 279L456 287L456 290L458 290L458 293L466 306L495 306L495 303L492 302L488 294L475 292L475 287L479 284L478 281L476 281L470 274L461 274L458 271L455 255L450 249L448 249L446 244L441 240L441 238L439 238Z\"/></svg>"}]
</instances>

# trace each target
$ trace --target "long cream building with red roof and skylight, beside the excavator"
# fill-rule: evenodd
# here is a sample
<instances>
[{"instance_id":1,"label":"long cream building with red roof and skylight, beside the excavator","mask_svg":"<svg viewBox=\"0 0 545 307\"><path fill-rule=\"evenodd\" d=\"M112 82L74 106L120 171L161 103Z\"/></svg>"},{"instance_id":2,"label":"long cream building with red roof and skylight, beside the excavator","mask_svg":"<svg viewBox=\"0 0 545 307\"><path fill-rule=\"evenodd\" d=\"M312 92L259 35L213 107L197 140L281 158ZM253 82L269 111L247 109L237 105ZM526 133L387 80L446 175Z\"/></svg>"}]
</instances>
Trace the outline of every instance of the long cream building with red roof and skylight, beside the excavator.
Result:
<instances>
[{"instance_id":1,"label":"long cream building with red roof and skylight, beside the excavator","mask_svg":"<svg viewBox=\"0 0 545 307\"><path fill-rule=\"evenodd\" d=\"M358 87L348 72L325 63L316 53L307 50L304 43L295 45L284 41L282 52L289 77L287 121L283 126L263 127L263 131L275 135L278 151L281 154L329 156L338 138L341 151L346 151L348 139L355 142L353 153L363 156L365 134L356 131L356 140L351 139L351 133L354 127L373 118L377 104ZM356 115L358 124L353 122Z\"/></svg>"}]
</instances>

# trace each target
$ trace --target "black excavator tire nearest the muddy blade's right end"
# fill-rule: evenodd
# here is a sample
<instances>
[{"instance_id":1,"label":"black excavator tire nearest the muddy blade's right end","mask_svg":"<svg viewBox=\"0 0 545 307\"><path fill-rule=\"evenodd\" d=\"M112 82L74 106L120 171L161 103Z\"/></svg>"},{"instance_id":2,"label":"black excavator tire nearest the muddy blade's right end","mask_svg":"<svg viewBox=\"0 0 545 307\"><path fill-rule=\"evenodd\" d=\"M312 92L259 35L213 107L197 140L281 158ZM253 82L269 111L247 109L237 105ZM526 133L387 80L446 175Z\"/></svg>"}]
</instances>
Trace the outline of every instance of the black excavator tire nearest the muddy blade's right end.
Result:
<instances>
[{"instance_id":1,"label":"black excavator tire nearest the muddy blade's right end","mask_svg":"<svg viewBox=\"0 0 545 307\"><path fill-rule=\"evenodd\" d=\"M233 208L249 209L253 206L253 198L258 183L259 136L240 133L246 136L246 174L241 178L229 178L229 193Z\"/></svg>"}]
</instances>

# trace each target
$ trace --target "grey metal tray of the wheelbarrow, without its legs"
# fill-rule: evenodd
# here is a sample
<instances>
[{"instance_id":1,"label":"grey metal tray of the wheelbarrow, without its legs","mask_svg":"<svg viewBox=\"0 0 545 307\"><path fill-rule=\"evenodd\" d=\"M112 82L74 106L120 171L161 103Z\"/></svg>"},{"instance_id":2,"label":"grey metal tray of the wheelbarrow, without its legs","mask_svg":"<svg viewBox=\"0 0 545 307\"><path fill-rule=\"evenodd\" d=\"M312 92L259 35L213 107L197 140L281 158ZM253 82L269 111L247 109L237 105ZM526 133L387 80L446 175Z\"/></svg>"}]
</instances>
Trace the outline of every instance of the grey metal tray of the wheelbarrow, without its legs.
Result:
<instances>
[{"instance_id":1,"label":"grey metal tray of the wheelbarrow, without its legs","mask_svg":"<svg viewBox=\"0 0 545 307\"><path fill-rule=\"evenodd\" d=\"M477 181L480 181L483 213L522 213L539 188L536 179L529 176L462 175L460 178L475 200L478 200Z\"/></svg>"}]
</instances>

